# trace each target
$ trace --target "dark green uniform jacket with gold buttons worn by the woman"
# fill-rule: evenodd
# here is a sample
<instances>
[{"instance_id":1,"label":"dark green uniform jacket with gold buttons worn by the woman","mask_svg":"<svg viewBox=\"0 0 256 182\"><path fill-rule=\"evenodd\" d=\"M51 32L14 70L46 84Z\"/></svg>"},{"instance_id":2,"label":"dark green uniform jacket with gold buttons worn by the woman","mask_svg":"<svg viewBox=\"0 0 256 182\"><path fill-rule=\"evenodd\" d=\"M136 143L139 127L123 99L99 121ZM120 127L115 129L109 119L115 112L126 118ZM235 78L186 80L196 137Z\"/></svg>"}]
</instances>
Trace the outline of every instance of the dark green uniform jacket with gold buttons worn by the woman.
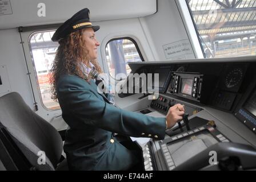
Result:
<instances>
[{"instance_id":1,"label":"dark green uniform jacket with gold buttons worn by the woman","mask_svg":"<svg viewBox=\"0 0 256 182\"><path fill-rule=\"evenodd\" d=\"M134 155L111 140L113 133L165 137L165 118L149 117L109 104L97 92L93 80L87 82L78 76L63 75L57 84L57 95L62 117L69 125L64 151L71 170L126 170L133 166Z\"/></svg>"}]
</instances>

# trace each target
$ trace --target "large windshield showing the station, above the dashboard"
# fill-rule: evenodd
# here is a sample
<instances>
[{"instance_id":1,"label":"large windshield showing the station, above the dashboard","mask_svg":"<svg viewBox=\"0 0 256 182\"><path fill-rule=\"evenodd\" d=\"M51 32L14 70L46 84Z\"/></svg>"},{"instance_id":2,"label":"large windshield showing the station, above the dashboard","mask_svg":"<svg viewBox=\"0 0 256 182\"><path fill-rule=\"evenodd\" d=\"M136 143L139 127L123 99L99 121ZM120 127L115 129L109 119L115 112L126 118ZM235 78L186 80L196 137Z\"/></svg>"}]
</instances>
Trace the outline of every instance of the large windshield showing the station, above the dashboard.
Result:
<instances>
[{"instance_id":1,"label":"large windshield showing the station, above the dashboard","mask_svg":"<svg viewBox=\"0 0 256 182\"><path fill-rule=\"evenodd\" d=\"M186 0L206 58L256 55L255 0Z\"/></svg>"}]
</instances>

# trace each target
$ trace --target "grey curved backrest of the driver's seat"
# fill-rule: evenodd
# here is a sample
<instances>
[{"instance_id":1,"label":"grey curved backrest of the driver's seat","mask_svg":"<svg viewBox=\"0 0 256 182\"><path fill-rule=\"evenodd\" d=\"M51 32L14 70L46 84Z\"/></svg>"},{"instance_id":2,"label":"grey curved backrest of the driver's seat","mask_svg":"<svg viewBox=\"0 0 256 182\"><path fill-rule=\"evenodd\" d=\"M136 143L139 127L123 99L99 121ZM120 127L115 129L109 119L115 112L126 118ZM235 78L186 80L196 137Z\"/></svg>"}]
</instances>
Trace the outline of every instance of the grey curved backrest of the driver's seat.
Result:
<instances>
[{"instance_id":1,"label":"grey curved backrest of the driver's seat","mask_svg":"<svg viewBox=\"0 0 256 182\"><path fill-rule=\"evenodd\" d=\"M63 148L61 135L30 109L19 93L0 97L0 122L32 166L38 170L54 170L57 167ZM42 160L38 162L43 152L46 155L45 164Z\"/></svg>"}]
</instances>

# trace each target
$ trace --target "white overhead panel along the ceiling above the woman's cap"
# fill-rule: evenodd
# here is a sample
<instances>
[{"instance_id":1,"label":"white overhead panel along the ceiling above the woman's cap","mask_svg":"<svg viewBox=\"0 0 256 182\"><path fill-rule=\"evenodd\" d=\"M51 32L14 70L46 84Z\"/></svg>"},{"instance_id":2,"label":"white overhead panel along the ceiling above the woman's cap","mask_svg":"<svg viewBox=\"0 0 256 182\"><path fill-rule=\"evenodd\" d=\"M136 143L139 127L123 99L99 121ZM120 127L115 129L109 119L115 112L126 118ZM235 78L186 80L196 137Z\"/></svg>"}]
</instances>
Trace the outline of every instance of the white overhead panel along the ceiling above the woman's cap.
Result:
<instances>
[{"instance_id":1,"label":"white overhead panel along the ceiling above the woman's cap","mask_svg":"<svg viewBox=\"0 0 256 182\"><path fill-rule=\"evenodd\" d=\"M85 7L91 11L91 21L135 18L157 11L156 0L11 0L4 6L0 29L63 23Z\"/></svg>"}]
</instances>

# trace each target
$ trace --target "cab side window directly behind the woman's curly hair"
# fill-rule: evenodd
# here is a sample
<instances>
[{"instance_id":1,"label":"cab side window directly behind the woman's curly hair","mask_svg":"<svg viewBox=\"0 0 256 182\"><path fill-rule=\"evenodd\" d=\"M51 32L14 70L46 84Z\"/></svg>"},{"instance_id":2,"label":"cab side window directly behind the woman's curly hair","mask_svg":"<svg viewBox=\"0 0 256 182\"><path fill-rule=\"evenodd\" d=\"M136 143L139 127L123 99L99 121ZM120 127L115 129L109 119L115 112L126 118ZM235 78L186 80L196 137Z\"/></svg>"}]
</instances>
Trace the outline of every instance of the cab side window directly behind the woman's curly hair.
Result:
<instances>
[{"instance_id":1,"label":"cab side window directly behind the woman's curly hair","mask_svg":"<svg viewBox=\"0 0 256 182\"><path fill-rule=\"evenodd\" d=\"M47 110L60 109L58 102L51 98L51 63L55 58L58 43L52 42L55 31L41 31L30 35L29 45L35 75L43 107Z\"/></svg>"}]
</instances>

